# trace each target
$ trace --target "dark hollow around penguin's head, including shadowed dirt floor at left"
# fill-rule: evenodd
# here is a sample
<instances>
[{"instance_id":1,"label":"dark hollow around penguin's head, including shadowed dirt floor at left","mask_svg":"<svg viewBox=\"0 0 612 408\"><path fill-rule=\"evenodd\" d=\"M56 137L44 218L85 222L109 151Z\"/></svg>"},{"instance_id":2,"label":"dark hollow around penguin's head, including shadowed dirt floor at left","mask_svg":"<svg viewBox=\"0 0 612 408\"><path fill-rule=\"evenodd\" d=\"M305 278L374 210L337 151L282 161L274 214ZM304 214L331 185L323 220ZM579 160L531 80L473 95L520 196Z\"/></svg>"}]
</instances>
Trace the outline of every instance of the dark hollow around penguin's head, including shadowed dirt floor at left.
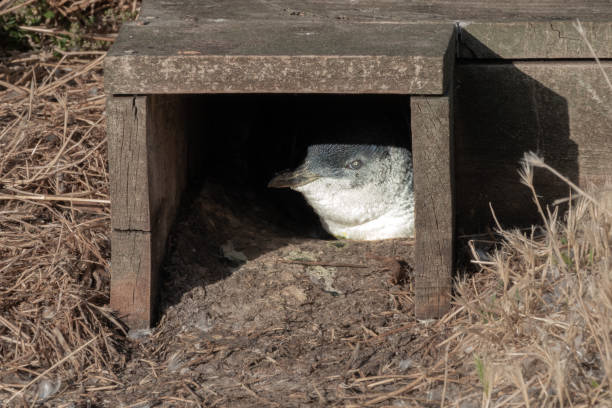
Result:
<instances>
[{"instance_id":1,"label":"dark hollow around penguin's head, including shadowed dirt floor at left","mask_svg":"<svg viewBox=\"0 0 612 408\"><path fill-rule=\"evenodd\" d=\"M300 193L267 187L276 173L301 164L310 144L411 145L406 95L184 98L188 181L164 262L165 284L173 286L231 273L235 265L221 249L228 242L252 260L299 240L333 240Z\"/></svg>"}]
</instances>

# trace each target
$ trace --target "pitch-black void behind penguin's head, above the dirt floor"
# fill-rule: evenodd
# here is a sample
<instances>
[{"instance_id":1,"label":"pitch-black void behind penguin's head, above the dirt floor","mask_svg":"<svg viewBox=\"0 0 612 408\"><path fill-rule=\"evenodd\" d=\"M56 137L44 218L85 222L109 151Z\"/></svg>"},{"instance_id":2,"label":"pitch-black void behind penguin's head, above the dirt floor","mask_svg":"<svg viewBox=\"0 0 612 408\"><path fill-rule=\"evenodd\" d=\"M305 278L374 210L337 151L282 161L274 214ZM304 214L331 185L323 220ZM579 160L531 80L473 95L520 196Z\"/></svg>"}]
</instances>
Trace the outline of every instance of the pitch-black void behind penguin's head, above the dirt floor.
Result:
<instances>
[{"instance_id":1,"label":"pitch-black void behind penguin's head, above the dirt floor","mask_svg":"<svg viewBox=\"0 0 612 408\"><path fill-rule=\"evenodd\" d=\"M301 164L310 144L410 147L408 96L198 95L187 105L190 192L214 185L298 236L326 237L301 194L267 184Z\"/></svg>"}]
</instances>

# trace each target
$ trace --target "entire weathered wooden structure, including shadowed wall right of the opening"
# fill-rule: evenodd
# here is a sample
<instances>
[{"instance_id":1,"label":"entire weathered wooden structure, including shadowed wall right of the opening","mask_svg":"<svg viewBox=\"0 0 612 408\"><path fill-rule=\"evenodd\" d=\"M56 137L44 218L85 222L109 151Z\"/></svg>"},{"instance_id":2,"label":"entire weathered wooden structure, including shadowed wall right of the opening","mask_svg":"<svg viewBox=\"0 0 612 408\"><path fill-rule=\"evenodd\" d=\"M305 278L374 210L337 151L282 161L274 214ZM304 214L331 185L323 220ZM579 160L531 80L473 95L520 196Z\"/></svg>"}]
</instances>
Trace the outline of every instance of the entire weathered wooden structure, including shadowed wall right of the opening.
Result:
<instances>
[{"instance_id":1,"label":"entire weathered wooden structure, including shadowed wall right of the opening","mask_svg":"<svg viewBox=\"0 0 612 408\"><path fill-rule=\"evenodd\" d=\"M393 94L410 99L416 315L442 316L456 231L486 231L489 203L506 225L536 220L516 175L525 151L581 184L612 174L611 91L576 17L612 74L608 1L145 0L105 62L112 307L153 322L188 95ZM538 180L544 200L567 195Z\"/></svg>"}]
</instances>

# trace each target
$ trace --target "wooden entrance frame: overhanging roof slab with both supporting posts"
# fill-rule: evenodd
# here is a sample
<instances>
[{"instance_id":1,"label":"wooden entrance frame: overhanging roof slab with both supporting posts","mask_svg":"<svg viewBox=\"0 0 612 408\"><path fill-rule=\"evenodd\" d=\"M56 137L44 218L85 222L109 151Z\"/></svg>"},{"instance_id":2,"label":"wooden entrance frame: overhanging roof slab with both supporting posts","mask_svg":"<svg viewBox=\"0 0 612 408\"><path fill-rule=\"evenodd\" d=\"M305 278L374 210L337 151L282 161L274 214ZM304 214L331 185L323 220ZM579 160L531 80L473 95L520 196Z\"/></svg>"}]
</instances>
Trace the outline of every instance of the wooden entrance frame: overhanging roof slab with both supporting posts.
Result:
<instances>
[{"instance_id":1,"label":"wooden entrance frame: overhanging roof slab with both supporting posts","mask_svg":"<svg viewBox=\"0 0 612 408\"><path fill-rule=\"evenodd\" d=\"M441 316L449 306L453 258L448 90L454 25L338 23L270 14L250 2L232 10L184 3L145 2L139 23L122 28L106 59L112 306L131 327L148 326L154 318L166 240L194 162L189 95L225 94L244 107L245 94L297 100L377 94L403 95L409 106L416 313ZM206 115L200 113L202 122ZM235 127L241 112L228 117L227 126ZM218 128L203 137L210 146L225 136Z\"/></svg>"}]
</instances>

